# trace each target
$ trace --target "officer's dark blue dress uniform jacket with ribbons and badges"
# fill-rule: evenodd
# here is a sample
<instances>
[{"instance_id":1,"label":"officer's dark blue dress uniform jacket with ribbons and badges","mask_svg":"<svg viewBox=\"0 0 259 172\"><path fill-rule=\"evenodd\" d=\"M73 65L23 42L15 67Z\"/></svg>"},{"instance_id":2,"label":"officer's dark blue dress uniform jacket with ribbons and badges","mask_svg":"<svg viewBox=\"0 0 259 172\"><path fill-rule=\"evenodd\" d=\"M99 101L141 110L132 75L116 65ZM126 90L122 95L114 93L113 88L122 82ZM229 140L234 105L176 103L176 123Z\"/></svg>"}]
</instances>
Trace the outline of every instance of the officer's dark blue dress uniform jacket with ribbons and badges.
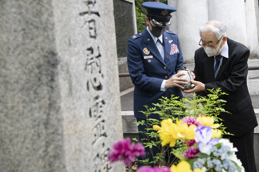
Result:
<instances>
[{"instance_id":1,"label":"officer's dark blue dress uniform jacket with ribbons and badges","mask_svg":"<svg viewBox=\"0 0 259 172\"><path fill-rule=\"evenodd\" d=\"M158 99L171 98L171 94L182 98L179 87L167 88L165 92L160 91L164 79L175 75L183 66L183 55L178 36L166 30L163 33L164 60L150 36L147 28L128 40L127 63L134 88L134 116L146 119L139 111L147 111L155 107L152 103L160 103ZM146 51L145 51L145 50ZM147 49L149 51L147 51ZM152 114L150 118L159 119L158 114Z\"/></svg>"}]
</instances>

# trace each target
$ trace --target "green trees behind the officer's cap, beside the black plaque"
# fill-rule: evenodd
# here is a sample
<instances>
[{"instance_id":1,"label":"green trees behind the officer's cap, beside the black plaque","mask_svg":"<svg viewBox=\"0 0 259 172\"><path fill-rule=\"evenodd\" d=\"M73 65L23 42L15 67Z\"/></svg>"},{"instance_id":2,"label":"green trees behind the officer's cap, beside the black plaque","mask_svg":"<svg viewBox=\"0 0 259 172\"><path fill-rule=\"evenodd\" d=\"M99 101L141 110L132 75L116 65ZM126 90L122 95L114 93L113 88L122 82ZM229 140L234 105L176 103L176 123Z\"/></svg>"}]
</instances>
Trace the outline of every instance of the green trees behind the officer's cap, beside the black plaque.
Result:
<instances>
[{"instance_id":1,"label":"green trees behind the officer's cap, beside the black plaque","mask_svg":"<svg viewBox=\"0 0 259 172\"><path fill-rule=\"evenodd\" d=\"M258 0L259 1L259 0ZM136 20L137 20L137 31L142 32L147 26L145 17L147 15L147 9L143 8L141 4L143 2L162 2L167 4L167 0L135 0Z\"/></svg>"}]
</instances>

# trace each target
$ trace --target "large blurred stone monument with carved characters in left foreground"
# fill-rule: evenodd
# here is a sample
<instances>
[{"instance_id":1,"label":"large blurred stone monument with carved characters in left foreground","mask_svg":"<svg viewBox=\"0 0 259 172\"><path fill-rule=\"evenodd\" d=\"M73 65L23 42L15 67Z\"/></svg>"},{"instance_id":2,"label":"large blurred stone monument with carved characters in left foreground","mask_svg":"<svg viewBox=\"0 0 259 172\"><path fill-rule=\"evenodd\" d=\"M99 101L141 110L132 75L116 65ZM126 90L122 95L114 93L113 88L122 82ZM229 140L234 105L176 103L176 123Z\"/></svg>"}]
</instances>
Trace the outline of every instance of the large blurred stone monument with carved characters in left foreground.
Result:
<instances>
[{"instance_id":1,"label":"large blurred stone monument with carved characters in left foreground","mask_svg":"<svg viewBox=\"0 0 259 172\"><path fill-rule=\"evenodd\" d=\"M0 0L0 171L125 171L112 0Z\"/></svg>"}]
</instances>

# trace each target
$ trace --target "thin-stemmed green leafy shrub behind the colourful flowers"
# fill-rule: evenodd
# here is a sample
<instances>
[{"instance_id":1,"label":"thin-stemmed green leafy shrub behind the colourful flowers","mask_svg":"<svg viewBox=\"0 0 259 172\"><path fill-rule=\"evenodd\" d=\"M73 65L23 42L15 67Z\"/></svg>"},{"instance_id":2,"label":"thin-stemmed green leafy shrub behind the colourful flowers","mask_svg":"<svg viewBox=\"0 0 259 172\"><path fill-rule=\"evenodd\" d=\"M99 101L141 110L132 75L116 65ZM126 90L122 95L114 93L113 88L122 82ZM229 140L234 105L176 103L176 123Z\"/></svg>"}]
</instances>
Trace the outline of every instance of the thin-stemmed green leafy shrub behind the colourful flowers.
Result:
<instances>
[{"instance_id":1,"label":"thin-stemmed green leafy shrub behind the colourful flowers","mask_svg":"<svg viewBox=\"0 0 259 172\"><path fill-rule=\"evenodd\" d=\"M140 122L135 122L137 125L144 125L146 126L147 132L139 131L139 133L144 133L147 136L146 140L142 140L141 142L144 144L145 147L152 148L153 146L158 146L160 148L160 144L162 140L159 139L159 133L156 132L155 129L153 129L153 125L161 125L161 121L163 119L171 118L174 123L176 123L177 120L183 119L186 116L193 116L198 117L199 115L205 115L205 116L212 116L214 118L214 121L216 121L218 124L220 124L220 130L223 134L230 134L225 131L226 127L222 124L222 119L218 117L218 115L221 112L226 112L222 106L225 105L224 103L226 101L222 99L218 99L221 95L227 95L226 93L222 93L220 88L218 89L208 89L208 91L211 92L211 94L208 94L208 97L200 97L196 94L193 94L193 99L191 98L183 98L178 100L179 97L175 97L174 95L171 95L170 99L167 97L162 97L160 100L160 103L154 104L154 108L149 108L147 105L145 105L147 111L141 111L145 116L147 123L145 123L144 120ZM153 113L159 114L161 120L151 119L150 115ZM155 138L156 142L150 141L150 138ZM134 139L136 140L136 139ZM175 148L172 152L179 160L186 160L183 157L183 152L186 150L186 145L183 143L184 141L182 139L179 139L176 141ZM154 163L156 166L161 166L162 163L164 163L164 153L168 152L169 145L162 147L160 149L160 152L156 155L153 154L153 160L150 162L148 160L144 160L143 162L146 163L146 165L150 165L150 163ZM203 154L200 154L202 156ZM170 166L171 164L167 164L167 166Z\"/></svg>"}]
</instances>

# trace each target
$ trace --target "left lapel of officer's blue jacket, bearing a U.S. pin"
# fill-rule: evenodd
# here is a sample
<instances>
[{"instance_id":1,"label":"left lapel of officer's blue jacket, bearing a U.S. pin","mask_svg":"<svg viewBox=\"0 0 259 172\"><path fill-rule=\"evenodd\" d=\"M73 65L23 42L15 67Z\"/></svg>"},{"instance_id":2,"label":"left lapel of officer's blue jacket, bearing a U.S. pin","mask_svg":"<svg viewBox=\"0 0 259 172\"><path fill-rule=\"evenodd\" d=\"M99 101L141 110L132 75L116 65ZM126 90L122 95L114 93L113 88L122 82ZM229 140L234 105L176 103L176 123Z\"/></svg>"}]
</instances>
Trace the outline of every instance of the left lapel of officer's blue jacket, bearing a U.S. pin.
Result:
<instances>
[{"instance_id":1,"label":"left lapel of officer's blue jacket, bearing a U.S. pin","mask_svg":"<svg viewBox=\"0 0 259 172\"><path fill-rule=\"evenodd\" d=\"M148 44L147 46L148 50L155 56L153 58L157 58L163 64L165 64L159 50L156 47L156 44L153 38L150 36L149 32L147 31L147 28L142 33L143 33L144 42Z\"/></svg>"}]
</instances>

